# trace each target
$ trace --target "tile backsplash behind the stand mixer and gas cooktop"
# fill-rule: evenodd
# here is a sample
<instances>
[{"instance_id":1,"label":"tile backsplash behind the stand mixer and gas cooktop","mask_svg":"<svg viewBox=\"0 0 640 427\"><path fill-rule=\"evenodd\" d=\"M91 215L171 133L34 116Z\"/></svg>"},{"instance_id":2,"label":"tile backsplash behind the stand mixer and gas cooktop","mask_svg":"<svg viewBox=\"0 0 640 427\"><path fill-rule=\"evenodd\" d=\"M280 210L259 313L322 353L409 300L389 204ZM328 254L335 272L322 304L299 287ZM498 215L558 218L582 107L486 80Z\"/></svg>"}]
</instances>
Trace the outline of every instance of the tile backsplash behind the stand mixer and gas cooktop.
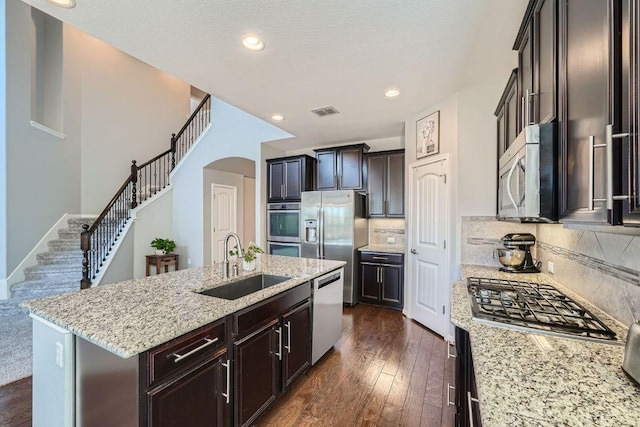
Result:
<instances>
[{"instance_id":1,"label":"tile backsplash behind the stand mixer and gas cooktop","mask_svg":"<svg viewBox=\"0 0 640 427\"><path fill-rule=\"evenodd\" d=\"M502 246L500 237L513 232L536 236L532 252L543 273L625 326L640 319L640 236L462 217L462 263L499 267L494 249ZM548 272L549 261L553 274Z\"/></svg>"}]
</instances>

